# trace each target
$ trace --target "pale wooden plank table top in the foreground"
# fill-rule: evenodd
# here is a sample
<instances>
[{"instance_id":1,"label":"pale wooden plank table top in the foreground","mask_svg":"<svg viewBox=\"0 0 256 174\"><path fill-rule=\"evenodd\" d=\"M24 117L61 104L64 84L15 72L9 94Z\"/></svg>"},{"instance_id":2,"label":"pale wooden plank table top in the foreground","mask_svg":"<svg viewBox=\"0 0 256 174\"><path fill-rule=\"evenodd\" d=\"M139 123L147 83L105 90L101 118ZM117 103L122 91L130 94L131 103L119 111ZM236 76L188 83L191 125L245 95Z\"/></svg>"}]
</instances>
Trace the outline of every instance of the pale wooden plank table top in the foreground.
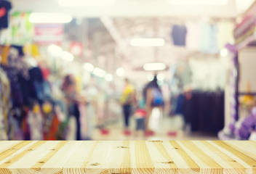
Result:
<instances>
[{"instance_id":1,"label":"pale wooden plank table top in the foreground","mask_svg":"<svg viewBox=\"0 0 256 174\"><path fill-rule=\"evenodd\" d=\"M0 141L0 173L256 173L256 141Z\"/></svg>"}]
</instances>

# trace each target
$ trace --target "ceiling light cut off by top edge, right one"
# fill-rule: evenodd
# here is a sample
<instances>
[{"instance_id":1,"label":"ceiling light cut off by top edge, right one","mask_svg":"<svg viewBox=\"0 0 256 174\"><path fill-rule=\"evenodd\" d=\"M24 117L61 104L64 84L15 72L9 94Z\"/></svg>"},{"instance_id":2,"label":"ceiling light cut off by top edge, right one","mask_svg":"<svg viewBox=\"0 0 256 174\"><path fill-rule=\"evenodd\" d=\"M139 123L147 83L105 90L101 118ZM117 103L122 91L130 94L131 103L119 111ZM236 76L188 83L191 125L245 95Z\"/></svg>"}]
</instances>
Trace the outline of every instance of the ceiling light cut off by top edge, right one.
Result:
<instances>
[{"instance_id":1,"label":"ceiling light cut off by top edge, right one","mask_svg":"<svg viewBox=\"0 0 256 174\"><path fill-rule=\"evenodd\" d=\"M178 5L225 5L228 0L169 0L169 3Z\"/></svg>"}]
</instances>

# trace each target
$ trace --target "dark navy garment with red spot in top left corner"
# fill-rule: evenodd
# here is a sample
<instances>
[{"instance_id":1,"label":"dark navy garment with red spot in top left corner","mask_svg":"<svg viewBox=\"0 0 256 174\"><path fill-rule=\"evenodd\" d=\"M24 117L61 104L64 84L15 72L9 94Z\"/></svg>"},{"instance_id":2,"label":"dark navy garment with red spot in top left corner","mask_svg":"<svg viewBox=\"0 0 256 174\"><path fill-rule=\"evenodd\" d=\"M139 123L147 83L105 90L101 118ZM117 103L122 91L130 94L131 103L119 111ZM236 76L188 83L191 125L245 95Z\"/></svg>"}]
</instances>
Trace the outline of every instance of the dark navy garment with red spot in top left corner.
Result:
<instances>
[{"instance_id":1,"label":"dark navy garment with red spot in top left corner","mask_svg":"<svg viewBox=\"0 0 256 174\"><path fill-rule=\"evenodd\" d=\"M0 1L0 30L8 28L10 9L12 9L12 4L9 1Z\"/></svg>"}]
</instances>

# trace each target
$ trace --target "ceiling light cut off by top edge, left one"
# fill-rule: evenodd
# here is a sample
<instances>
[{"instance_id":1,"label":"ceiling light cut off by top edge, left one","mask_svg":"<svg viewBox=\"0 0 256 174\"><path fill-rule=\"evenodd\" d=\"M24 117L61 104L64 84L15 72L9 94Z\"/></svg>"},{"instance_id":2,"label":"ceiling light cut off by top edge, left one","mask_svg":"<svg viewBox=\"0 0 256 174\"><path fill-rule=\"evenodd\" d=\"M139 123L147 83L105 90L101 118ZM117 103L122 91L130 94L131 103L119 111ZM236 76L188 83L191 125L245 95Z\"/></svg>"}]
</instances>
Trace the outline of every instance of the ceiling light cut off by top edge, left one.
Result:
<instances>
[{"instance_id":1,"label":"ceiling light cut off by top edge, left one","mask_svg":"<svg viewBox=\"0 0 256 174\"><path fill-rule=\"evenodd\" d=\"M59 0L60 6L112 6L115 0Z\"/></svg>"}]
</instances>

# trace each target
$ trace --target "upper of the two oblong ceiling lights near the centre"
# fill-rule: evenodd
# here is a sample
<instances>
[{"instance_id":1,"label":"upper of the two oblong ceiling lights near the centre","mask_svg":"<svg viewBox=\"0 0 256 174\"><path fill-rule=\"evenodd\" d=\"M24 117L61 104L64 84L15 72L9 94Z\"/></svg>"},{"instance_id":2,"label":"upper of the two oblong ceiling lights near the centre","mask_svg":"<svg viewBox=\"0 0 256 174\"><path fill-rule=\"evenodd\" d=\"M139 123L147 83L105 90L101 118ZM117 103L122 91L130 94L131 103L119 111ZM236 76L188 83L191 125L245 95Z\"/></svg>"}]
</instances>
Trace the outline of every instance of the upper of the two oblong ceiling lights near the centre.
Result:
<instances>
[{"instance_id":1,"label":"upper of the two oblong ceiling lights near the centre","mask_svg":"<svg viewBox=\"0 0 256 174\"><path fill-rule=\"evenodd\" d=\"M164 46L165 41L162 38L133 38L130 44L131 46Z\"/></svg>"}]
</instances>

